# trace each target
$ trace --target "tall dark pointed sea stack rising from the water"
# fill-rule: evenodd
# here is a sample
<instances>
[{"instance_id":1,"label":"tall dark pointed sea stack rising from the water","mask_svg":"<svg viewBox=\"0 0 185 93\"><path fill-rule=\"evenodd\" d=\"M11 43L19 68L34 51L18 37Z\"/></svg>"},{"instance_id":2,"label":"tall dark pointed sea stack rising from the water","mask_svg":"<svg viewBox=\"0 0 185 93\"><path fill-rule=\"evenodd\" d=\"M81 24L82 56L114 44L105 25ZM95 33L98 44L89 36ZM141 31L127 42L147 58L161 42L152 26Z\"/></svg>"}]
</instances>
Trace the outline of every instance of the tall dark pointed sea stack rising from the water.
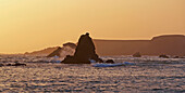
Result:
<instances>
[{"instance_id":1,"label":"tall dark pointed sea stack rising from the water","mask_svg":"<svg viewBox=\"0 0 185 93\"><path fill-rule=\"evenodd\" d=\"M102 59L99 58L99 56L95 52L95 44L89 37L89 34L86 32L86 35L82 35L74 56L67 55L62 63L64 64L90 64L90 59L94 59L96 62L102 63Z\"/></svg>"}]
</instances>

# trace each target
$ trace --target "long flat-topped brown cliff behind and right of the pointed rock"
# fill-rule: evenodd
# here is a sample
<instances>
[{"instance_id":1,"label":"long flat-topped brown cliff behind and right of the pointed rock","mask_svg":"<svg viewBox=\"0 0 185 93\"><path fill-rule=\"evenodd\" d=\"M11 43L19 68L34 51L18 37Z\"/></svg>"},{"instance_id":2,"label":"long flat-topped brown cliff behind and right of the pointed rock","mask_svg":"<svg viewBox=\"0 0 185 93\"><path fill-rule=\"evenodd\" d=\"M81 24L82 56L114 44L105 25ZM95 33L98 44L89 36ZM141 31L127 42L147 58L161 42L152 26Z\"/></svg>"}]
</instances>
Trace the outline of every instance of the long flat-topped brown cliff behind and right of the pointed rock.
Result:
<instances>
[{"instance_id":1,"label":"long flat-topped brown cliff behind and right of the pointed rock","mask_svg":"<svg viewBox=\"0 0 185 93\"><path fill-rule=\"evenodd\" d=\"M99 55L185 55L185 36L165 35L151 40L94 40Z\"/></svg>"}]
</instances>

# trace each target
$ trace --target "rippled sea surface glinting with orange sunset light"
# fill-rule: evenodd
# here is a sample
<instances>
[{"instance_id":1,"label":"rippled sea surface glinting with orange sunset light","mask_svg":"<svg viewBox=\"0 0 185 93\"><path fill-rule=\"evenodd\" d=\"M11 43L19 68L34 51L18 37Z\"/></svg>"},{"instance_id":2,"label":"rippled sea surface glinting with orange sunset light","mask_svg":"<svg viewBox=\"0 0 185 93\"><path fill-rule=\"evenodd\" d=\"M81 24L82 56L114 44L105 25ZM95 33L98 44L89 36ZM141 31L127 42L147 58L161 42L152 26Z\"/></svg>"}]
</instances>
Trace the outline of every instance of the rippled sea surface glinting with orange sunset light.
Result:
<instances>
[{"instance_id":1,"label":"rippled sea surface glinting with orange sunset light","mask_svg":"<svg viewBox=\"0 0 185 93\"><path fill-rule=\"evenodd\" d=\"M92 67L60 64L62 58L1 55L0 92L185 93L185 58L102 56L135 65Z\"/></svg>"}]
</instances>

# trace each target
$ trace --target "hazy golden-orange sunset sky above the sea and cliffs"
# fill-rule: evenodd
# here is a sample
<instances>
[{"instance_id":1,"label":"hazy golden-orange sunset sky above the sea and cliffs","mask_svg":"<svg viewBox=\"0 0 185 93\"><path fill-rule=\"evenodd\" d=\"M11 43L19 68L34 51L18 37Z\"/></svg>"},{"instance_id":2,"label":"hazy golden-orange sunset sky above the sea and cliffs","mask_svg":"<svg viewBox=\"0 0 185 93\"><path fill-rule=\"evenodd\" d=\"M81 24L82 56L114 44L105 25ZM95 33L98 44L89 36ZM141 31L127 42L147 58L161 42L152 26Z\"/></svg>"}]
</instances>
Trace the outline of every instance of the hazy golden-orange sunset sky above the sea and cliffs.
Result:
<instances>
[{"instance_id":1,"label":"hazy golden-orange sunset sky above the sea and cliffs","mask_svg":"<svg viewBox=\"0 0 185 93\"><path fill-rule=\"evenodd\" d=\"M185 35L185 0L0 0L0 53L96 39Z\"/></svg>"}]
</instances>

